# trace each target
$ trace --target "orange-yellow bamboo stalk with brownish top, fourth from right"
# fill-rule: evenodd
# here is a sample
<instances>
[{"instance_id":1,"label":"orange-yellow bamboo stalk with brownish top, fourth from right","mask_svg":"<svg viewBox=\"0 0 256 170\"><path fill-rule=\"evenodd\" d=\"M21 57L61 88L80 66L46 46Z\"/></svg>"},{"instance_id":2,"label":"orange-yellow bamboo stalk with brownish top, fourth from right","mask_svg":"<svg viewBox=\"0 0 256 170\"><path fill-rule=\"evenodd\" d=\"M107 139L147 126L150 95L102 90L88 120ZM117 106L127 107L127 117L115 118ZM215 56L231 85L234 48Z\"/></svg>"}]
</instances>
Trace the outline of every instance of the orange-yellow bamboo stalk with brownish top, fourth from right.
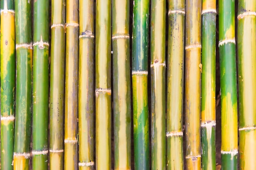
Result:
<instances>
[{"instance_id":1,"label":"orange-yellow bamboo stalk with brownish top, fourth from right","mask_svg":"<svg viewBox=\"0 0 256 170\"><path fill-rule=\"evenodd\" d=\"M186 0L185 126L186 169L201 169L201 0Z\"/></svg>"}]
</instances>

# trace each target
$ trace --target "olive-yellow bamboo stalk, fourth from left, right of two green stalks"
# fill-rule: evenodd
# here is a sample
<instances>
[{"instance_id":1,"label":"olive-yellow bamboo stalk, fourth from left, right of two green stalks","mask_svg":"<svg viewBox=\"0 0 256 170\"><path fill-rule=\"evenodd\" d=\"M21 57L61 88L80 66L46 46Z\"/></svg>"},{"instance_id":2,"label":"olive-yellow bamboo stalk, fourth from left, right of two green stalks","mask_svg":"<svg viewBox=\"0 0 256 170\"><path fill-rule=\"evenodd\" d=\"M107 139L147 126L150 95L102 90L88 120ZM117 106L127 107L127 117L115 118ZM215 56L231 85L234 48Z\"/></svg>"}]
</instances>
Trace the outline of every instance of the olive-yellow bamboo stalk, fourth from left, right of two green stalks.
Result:
<instances>
[{"instance_id":1,"label":"olive-yellow bamboo stalk, fourth from left, right of two green stalks","mask_svg":"<svg viewBox=\"0 0 256 170\"><path fill-rule=\"evenodd\" d=\"M66 0L52 0L51 71L49 98L49 168L64 168L65 7Z\"/></svg>"}]
</instances>

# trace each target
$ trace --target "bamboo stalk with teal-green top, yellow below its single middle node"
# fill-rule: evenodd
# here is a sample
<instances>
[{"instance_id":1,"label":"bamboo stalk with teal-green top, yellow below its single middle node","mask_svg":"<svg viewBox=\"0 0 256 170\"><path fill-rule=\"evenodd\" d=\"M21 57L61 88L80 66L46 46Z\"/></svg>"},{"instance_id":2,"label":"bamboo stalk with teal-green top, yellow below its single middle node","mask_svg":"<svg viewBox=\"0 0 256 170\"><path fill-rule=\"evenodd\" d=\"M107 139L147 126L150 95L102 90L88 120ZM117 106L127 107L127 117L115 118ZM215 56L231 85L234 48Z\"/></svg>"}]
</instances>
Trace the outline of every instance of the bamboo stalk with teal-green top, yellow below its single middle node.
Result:
<instances>
[{"instance_id":1,"label":"bamboo stalk with teal-green top, yellow below its single middle node","mask_svg":"<svg viewBox=\"0 0 256 170\"><path fill-rule=\"evenodd\" d=\"M133 1L132 101L135 170L149 170L148 125L149 0Z\"/></svg>"}]
</instances>

